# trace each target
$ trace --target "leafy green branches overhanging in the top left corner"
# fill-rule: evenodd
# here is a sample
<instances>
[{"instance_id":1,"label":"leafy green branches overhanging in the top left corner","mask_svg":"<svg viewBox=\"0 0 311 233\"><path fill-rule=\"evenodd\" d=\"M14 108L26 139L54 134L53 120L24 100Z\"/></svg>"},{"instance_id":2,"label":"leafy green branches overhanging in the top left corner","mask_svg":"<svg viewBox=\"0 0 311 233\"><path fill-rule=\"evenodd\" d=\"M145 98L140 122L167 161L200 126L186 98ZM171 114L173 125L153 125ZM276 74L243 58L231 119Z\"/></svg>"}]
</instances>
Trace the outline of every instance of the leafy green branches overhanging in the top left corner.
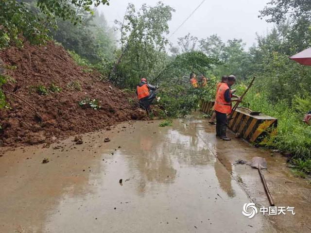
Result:
<instances>
[{"instance_id":1,"label":"leafy green branches overhanging in the top left corner","mask_svg":"<svg viewBox=\"0 0 311 233\"><path fill-rule=\"evenodd\" d=\"M47 26L56 27L55 17L77 23L81 17L76 7L91 12L93 4L108 4L107 0L1 0L0 1L0 49L10 44L22 46L22 34L30 42L44 44L49 39Z\"/></svg>"}]
</instances>

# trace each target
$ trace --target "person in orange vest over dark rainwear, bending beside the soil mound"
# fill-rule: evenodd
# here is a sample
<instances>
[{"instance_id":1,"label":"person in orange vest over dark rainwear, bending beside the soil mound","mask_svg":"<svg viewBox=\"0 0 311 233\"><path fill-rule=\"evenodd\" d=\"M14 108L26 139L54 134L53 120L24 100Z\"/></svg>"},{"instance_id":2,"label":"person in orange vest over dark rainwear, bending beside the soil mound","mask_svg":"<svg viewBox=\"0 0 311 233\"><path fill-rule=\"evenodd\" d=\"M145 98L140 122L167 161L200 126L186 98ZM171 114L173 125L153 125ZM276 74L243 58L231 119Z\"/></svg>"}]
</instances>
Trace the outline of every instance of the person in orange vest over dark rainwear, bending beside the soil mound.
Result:
<instances>
[{"instance_id":1,"label":"person in orange vest over dark rainwear, bending beside the soil mound","mask_svg":"<svg viewBox=\"0 0 311 233\"><path fill-rule=\"evenodd\" d=\"M150 105L156 97L155 86L149 84L145 78L140 80L136 87L136 94L139 100L139 106L144 110L149 110Z\"/></svg>"}]
</instances>

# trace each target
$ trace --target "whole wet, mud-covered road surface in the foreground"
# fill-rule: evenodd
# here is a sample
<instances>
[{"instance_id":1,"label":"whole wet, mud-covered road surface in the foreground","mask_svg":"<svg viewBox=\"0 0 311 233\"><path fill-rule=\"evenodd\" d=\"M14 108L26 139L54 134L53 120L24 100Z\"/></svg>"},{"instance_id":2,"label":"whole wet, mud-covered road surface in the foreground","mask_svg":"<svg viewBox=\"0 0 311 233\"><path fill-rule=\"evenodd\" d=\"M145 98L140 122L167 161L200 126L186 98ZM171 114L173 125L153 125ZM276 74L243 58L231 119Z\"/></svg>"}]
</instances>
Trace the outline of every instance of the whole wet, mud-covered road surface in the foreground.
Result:
<instances>
[{"instance_id":1,"label":"whole wet, mud-covered road surface in the foreground","mask_svg":"<svg viewBox=\"0 0 311 233\"><path fill-rule=\"evenodd\" d=\"M217 140L207 119L124 123L49 149L0 157L2 233L310 232L311 190L286 160L241 139ZM104 143L109 137L110 142ZM242 215L268 206L258 171L237 159L265 157L276 206L295 215ZM44 158L49 163L42 164ZM122 179L122 183L120 183Z\"/></svg>"}]
</instances>

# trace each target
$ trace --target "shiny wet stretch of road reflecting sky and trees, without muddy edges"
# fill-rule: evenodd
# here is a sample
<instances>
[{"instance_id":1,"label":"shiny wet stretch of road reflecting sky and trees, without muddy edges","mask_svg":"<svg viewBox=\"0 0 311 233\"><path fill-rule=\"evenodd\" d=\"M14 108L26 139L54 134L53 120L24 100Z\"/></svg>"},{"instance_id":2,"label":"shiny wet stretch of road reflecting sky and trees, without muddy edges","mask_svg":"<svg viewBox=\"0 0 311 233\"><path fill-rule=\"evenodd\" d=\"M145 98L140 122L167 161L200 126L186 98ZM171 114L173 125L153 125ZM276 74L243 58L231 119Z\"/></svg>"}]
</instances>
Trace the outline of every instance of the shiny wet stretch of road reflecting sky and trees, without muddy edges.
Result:
<instances>
[{"instance_id":1,"label":"shiny wet stretch of road reflecting sky and trees, without muddy edges","mask_svg":"<svg viewBox=\"0 0 311 233\"><path fill-rule=\"evenodd\" d=\"M201 121L176 120L174 129L136 123L131 138L118 134L101 151L83 195L66 194L45 231L257 232L263 219L241 216L249 202L220 163ZM129 140L130 139L130 140ZM120 150L111 155L118 145ZM208 145L208 146L207 146ZM122 179L122 186L119 180ZM223 224L225 220L226 224ZM252 228L248 225L252 224Z\"/></svg>"}]
</instances>

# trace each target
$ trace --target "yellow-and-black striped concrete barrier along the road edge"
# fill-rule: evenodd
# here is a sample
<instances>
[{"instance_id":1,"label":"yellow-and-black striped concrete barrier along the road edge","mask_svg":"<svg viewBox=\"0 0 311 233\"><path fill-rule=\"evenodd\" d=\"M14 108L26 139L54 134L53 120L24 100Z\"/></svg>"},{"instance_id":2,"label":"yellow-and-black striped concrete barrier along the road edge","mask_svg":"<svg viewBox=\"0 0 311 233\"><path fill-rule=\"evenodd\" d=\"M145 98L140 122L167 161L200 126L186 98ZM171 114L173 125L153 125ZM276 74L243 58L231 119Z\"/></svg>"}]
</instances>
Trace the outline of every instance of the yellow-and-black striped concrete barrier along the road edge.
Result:
<instances>
[{"instance_id":1,"label":"yellow-and-black striped concrete barrier along the road edge","mask_svg":"<svg viewBox=\"0 0 311 233\"><path fill-rule=\"evenodd\" d=\"M213 111L214 103L214 101L202 101L201 111L210 115ZM267 134L275 135L277 133L277 119L261 113L258 116L253 116L247 110L238 108L233 112L228 127L249 142L258 143L263 139L261 136Z\"/></svg>"}]
</instances>

